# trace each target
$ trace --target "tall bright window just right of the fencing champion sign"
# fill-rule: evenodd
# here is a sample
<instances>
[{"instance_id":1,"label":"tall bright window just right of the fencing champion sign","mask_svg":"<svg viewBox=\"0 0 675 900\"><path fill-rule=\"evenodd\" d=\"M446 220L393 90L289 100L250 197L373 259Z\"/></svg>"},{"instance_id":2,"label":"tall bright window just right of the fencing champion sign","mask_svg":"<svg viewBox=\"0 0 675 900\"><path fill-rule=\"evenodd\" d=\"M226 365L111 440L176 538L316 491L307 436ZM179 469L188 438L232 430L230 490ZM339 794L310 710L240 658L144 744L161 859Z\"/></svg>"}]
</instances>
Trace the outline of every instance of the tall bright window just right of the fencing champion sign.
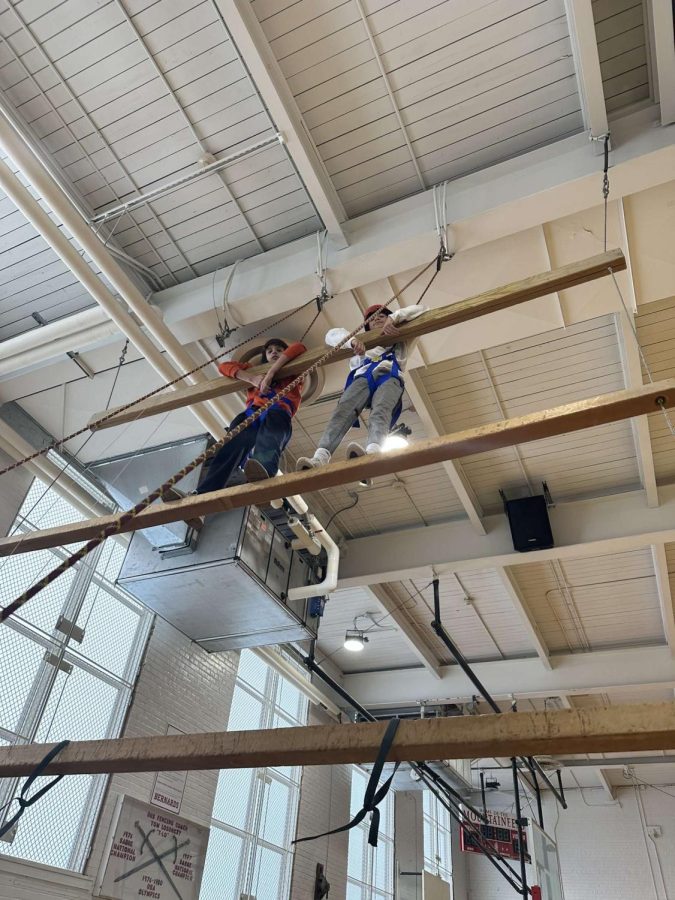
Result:
<instances>
[{"instance_id":1,"label":"tall bright window just right of the fencing champion sign","mask_svg":"<svg viewBox=\"0 0 675 900\"><path fill-rule=\"evenodd\" d=\"M230 731L307 723L307 700L250 650L239 659ZM285 900L300 799L299 766L223 769L200 900Z\"/></svg>"}]
</instances>

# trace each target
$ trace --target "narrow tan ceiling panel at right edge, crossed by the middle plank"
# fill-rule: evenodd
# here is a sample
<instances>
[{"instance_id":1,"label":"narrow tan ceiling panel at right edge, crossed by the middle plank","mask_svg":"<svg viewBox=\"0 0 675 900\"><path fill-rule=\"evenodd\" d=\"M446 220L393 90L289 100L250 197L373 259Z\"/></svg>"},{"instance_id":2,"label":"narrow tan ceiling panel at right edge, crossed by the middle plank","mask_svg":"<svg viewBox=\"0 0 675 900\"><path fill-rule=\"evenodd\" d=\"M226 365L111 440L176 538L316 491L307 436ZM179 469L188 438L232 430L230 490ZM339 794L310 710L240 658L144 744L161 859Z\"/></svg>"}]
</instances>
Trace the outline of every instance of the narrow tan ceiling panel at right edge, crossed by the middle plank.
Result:
<instances>
[{"instance_id":1,"label":"narrow tan ceiling panel at right edge, crossed by the middle plank","mask_svg":"<svg viewBox=\"0 0 675 900\"><path fill-rule=\"evenodd\" d=\"M640 346L655 381L675 377L675 298L639 307L636 328ZM643 367L643 379L648 373ZM668 420L675 414L668 412ZM675 480L675 435L662 413L649 416L649 433L657 481Z\"/></svg>"}]
</instances>

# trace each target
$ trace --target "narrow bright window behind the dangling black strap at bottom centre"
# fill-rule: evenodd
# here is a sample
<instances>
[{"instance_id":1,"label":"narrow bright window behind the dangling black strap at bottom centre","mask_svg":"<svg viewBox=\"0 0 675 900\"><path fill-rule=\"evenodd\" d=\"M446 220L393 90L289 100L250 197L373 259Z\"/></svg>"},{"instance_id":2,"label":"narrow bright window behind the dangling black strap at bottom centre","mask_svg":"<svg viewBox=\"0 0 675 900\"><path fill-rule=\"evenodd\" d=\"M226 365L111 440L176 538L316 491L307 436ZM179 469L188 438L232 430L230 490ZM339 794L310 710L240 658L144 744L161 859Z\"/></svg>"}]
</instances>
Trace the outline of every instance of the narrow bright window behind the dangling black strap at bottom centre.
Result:
<instances>
[{"instance_id":1,"label":"narrow bright window behind the dangling black strap at bottom centre","mask_svg":"<svg viewBox=\"0 0 675 900\"><path fill-rule=\"evenodd\" d=\"M370 773L352 768L350 817L363 806ZM380 803L380 833L377 847L368 843L368 816L349 832L347 900L385 900L394 896L394 795L390 791Z\"/></svg>"}]
</instances>

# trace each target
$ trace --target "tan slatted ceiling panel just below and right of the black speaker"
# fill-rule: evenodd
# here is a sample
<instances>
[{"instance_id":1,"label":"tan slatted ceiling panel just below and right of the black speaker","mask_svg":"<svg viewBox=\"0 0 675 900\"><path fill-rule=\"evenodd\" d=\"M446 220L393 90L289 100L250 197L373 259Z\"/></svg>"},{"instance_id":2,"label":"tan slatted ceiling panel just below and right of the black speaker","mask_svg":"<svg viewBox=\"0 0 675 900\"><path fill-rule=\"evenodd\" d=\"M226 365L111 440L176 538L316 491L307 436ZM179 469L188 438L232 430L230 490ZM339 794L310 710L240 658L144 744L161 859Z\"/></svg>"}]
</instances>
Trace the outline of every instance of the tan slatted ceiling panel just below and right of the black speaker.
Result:
<instances>
[{"instance_id":1,"label":"tan slatted ceiling panel just below and right of the black speaker","mask_svg":"<svg viewBox=\"0 0 675 900\"><path fill-rule=\"evenodd\" d=\"M649 550L512 571L553 652L664 643Z\"/></svg>"}]
</instances>

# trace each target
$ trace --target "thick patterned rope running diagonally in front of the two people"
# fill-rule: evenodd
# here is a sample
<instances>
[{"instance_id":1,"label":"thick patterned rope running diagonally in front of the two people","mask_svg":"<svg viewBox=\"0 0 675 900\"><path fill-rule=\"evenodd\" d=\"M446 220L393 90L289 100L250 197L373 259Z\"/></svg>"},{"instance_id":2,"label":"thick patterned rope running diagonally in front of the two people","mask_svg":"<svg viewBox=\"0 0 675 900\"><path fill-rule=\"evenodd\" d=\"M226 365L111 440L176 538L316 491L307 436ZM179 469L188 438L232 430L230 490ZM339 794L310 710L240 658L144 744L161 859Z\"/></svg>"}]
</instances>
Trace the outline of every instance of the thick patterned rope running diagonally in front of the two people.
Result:
<instances>
[{"instance_id":1,"label":"thick patterned rope running diagonally in front of the two people","mask_svg":"<svg viewBox=\"0 0 675 900\"><path fill-rule=\"evenodd\" d=\"M427 284L424 293L429 289L431 284L433 283L434 278L438 275L439 266L437 265L437 258L434 258L430 263L428 263L423 269L421 269L416 275L411 278L407 284L405 284L400 291L398 291L392 297L392 301L398 299L398 297L407 290L410 285L412 285L418 278L424 275L428 270L436 265L436 271L434 272L431 280ZM314 302L313 300L309 301ZM390 301L391 302L391 301ZM305 306L308 304L304 304ZM263 416L275 403L277 403L280 399L287 396L294 388L298 387L303 380L311 375L312 372L316 371L320 366L325 365L328 360L332 359L336 354L340 352L340 350L348 345L353 337L356 337L363 328L363 326L375 315L377 315L379 309L373 310L370 316L364 320L357 328L355 328L352 332L350 332L339 344L335 347L332 347L323 356L313 362L310 366L307 367L300 375L294 378L289 384L287 384L282 390L273 394L273 396L263 405L258 407L255 411L253 411L246 419L242 420L239 425L235 428L228 431L219 441L197 456L192 462L188 463L186 466L176 472L171 476L164 484L160 485L154 491L144 497L139 503L133 506L131 509L126 510L120 516L118 516L114 521L110 522L108 525L104 526L97 537L92 538L92 540L87 541L87 543L83 544L79 550L71 553L63 562L57 566L55 569L52 569L51 572L48 572L40 581L36 582L34 585L29 587L26 591L23 592L19 597L17 597L12 603L8 606L4 607L2 611L0 611L0 623L6 621L10 616L12 616L17 610L19 610L25 603L27 603L32 597L35 597L40 591L44 590L48 585L50 585L53 581L55 581L59 575L62 575L64 572L71 569L74 565L76 565L80 560L84 559L89 553L96 549L99 544L102 544L107 538L112 537L115 534L121 534L126 530L126 526L133 521L133 519L138 516L144 509L150 506L155 500L161 499L164 494L166 494L171 488L173 488L179 481L182 481L190 472L193 472L198 466L204 463L207 459L210 459L214 456L221 447L224 447L234 438L242 433L246 428L256 422L261 416ZM289 318L289 316L285 316L284 318ZM280 320L280 321L283 321Z\"/></svg>"}]
</instances>

